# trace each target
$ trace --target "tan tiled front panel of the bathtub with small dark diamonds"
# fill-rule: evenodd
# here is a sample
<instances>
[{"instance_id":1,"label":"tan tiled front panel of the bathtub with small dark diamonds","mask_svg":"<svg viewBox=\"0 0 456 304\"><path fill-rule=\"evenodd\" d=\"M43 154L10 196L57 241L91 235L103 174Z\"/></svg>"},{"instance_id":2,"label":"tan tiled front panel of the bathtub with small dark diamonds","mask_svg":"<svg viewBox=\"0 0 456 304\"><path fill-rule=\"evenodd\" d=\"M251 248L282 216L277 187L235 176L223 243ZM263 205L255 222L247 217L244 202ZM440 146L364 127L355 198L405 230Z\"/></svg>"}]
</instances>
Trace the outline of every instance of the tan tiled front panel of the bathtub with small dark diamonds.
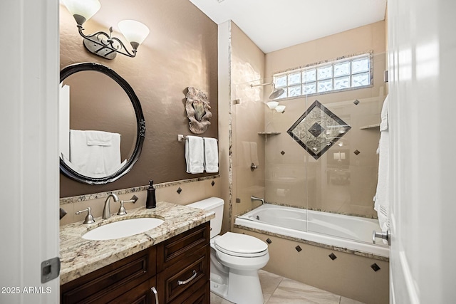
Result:
<instances>
[{"instance_id":1,"label":"tan tiled front panel of the bathtub with small dark diamonds","mask_svg":"<svg viewBox=\"0 0 456 304\"><path fill-rule=\"evenodd\" d=\"M369 304L388 303L389 263L355 254L311 246L275 236L266 236L243 229L234 232L272 242L268 246L269 262L265 271L306 283L346 298ZM296 246L302 251L296 251ZM336 259L328 257L331 253ZM379 271L373 271L376 263Z\"/></svg>"}]
</instances>

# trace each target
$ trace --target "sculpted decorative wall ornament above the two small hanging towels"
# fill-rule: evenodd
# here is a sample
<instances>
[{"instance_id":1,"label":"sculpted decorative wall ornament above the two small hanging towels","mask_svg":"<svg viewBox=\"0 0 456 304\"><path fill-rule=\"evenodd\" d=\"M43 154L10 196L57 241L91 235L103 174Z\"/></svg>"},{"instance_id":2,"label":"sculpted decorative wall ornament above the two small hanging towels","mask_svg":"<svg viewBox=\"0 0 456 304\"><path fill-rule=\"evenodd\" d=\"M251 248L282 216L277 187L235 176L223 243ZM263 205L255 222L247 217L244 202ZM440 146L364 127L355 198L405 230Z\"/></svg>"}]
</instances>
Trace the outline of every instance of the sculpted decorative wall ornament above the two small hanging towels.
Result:
<instances>
[{"instance_id":1,"label":"sculpted decorative wall ornament above the two small hanging towels","mask_svg":"<svg viewBox=\"0 0 456 304\"><path fill-rule=\"evenodd\" d=\"M206 132L211 124L209 121L212 113L209 111L209 100L207 95L197 88L188 87L188 93L185 96L187 102L185 103L185 110L187 117L190 120L190 131L195 134L202 134Z\"/></svg>"}]
</instances>

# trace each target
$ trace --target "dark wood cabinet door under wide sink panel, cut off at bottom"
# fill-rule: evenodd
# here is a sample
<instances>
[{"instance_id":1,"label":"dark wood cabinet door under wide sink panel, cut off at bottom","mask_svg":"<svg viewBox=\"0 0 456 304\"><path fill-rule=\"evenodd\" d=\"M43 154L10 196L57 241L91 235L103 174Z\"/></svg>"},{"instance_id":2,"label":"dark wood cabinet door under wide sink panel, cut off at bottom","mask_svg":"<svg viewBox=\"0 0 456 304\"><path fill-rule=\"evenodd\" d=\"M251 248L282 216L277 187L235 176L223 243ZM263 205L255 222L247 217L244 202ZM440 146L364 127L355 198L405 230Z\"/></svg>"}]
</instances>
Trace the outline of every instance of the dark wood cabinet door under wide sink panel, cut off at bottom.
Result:
<instances>
[{"instance_id":1,"label":"dark wood cabinet door under wide sink panel, cut off at bottom","mask_svg":"<svg viewBox=\"0 0 456 304\"><path fill-rule=\"evenodd\" d=\"M109 304L157 304L158 295L156 289L157 281L151 278L138 285L118 298L108 302Z\"/></svg>"}]
</instances>

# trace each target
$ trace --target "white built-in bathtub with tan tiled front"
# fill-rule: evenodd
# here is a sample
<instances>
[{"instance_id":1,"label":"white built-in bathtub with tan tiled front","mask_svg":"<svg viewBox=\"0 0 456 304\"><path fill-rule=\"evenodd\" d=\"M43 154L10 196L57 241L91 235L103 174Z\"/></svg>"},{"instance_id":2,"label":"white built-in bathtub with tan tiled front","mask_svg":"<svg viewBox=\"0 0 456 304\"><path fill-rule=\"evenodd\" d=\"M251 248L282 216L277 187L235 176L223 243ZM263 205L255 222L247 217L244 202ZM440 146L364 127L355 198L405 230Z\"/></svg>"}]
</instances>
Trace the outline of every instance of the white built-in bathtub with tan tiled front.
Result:
<instances>
[{"instance_id":1,"label":"white built-in bathtub with tan tiled front","mask_svg":"<svg viewBox=\"0 0 456 304\"><path fill-rule=\"evenodd\" d=\"M238 216L234 224L376 256L389 256L389 248L382 240L378 239L378 244L372 243L372 231L380 231L376 219L263 204Z\"/></svg>"}]
</instances>

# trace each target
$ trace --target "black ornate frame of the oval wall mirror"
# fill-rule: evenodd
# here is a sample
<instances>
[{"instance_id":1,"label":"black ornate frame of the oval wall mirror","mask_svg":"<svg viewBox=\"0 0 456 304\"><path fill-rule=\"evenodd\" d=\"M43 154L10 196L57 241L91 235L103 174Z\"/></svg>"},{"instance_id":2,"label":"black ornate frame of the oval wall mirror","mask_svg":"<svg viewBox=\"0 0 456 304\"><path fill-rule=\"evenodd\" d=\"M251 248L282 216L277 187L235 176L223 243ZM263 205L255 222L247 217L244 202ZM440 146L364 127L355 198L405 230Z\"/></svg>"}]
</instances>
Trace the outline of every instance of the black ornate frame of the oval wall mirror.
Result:
<instances>
[{"instance_id":1,"label":"black ornate frame of the oval wall mirror","mask_svg":"<svg viewBox=\"0 0 456 304\"><path fill-rule=\"evenodd\" d=\"M62 83L62 81L65 80L65 78L67 78L69 75L81 72L83 70L95 70L97 72L108 75L110 78L115 80L115 82L118 83L118 85L120 85L120 87L122 87L123 90L125 90L125 93L127 93L128 98L130 98L130 101L133 104L133 108L135 109L136 115L137 136L135 150L133 151L131 157L128 159L128 162L122 168L120 168L118 172L115 172L114 174L111 174L108 177L86 177L85 175L79 174L78 172L71 169L71 167L69 167L65 162L63 162L62 158L60 158L60 170L62 174L66 175L66 177L74 179L83 184L108 184L110 182L114 182L117 179L120 179L120 177L123 177L123 175L130 172L135 162L138 161L142 150L142 144L144 143L145 138L144 115L142 114L140 100L136 96L135 91L130 86L130 84L128 84L128 82L125 79L120 77L118 73L115 73L114 70L111 70L105 65L101 65L99 63L76 63L73 65L68 65L66 68L63 68L63 70L61 70L60 83Z\"/></svg>"}]
</instances>

